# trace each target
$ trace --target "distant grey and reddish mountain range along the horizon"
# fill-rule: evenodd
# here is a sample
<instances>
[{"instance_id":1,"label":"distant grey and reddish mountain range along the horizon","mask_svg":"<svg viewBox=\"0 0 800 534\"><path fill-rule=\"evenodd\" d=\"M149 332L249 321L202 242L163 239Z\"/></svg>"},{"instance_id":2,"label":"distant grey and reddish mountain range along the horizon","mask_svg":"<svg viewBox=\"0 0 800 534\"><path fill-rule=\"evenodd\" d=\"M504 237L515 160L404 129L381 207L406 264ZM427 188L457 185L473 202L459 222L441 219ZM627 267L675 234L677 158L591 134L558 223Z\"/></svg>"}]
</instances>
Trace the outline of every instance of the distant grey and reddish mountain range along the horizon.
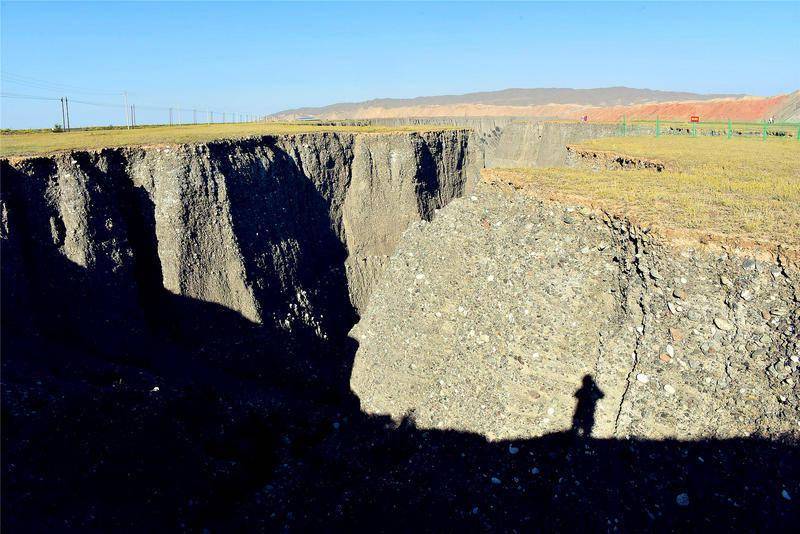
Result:
<instances>
[{"instance_id":1,"label":"distant grey and reddish mountain range along the horizon","mask_svg":"<svg viewBox=\"0 0 800 534\"><path fill-rule=\"evenodd\" d=\"M290 109L279 120L372 119L443 116L524 116L613 120L622 115L649 118L703 113L707 118L755 120L780 111L787 95L698 94L677 91L605 87L597 89L504 89L463 95L377 98L364 102Z\"/></svg>"}]
</instances>

